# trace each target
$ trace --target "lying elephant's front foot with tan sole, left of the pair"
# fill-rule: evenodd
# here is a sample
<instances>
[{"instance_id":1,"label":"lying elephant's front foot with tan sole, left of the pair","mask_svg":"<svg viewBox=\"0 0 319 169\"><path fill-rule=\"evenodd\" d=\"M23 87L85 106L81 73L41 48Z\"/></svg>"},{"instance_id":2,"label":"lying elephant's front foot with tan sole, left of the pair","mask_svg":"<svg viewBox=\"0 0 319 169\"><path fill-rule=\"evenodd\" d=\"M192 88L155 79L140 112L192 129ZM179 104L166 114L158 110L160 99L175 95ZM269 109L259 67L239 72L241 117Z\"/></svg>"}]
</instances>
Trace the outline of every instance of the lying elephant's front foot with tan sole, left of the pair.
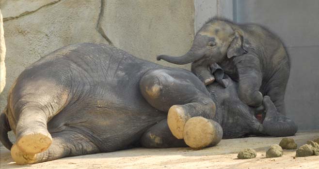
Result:
<instances>
[{"instance_id":1,"label":"lying elephant's front foot with tan sole, left of the pair","mask_svg":"<svg viewBox=\"0 0 319 169\"><path fill-rule=\"evenodd\" d=\"M169 109L167 114L168 127L177 139L184 138L185 123L191 118L191 116L186 113L186 110L184 105L174 105Z\"/></svg>"}]
</instances>

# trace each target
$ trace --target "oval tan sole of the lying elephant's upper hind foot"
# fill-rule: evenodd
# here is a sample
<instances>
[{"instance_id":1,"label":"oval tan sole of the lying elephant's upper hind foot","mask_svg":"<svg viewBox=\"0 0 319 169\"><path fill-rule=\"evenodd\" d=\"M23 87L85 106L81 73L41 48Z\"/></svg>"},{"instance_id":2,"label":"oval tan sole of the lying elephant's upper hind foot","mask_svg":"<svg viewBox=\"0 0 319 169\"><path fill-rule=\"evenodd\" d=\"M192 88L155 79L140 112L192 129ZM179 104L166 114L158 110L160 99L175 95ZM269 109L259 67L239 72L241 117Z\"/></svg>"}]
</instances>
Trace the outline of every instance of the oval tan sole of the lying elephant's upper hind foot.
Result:
<instances>
[{"instance_id":1,"label":"oval tan sole of the lying elephant's upper hind foot","mask_svg":"<svg viewBox=\"0 0 319 169\"><path fill-rule=\"evenodd\" d=\"M46 151L51 143L50 135L36 133L22 136L16 144L25 153L37 154Z\"/></svg>"}]
</instances>

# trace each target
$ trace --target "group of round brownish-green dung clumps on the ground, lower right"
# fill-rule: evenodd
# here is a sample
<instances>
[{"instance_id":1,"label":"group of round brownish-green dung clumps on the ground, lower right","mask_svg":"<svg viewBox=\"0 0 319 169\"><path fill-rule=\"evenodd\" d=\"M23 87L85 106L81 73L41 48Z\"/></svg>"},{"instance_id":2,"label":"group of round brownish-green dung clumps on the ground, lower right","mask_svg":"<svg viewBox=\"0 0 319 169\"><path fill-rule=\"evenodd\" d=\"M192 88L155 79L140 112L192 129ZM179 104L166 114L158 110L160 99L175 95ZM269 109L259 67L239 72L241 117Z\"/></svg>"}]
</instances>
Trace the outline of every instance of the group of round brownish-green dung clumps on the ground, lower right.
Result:
<instances>
[{"instance_id":1,"label":"group of round brownish-green dung clumps on the ground, lower right","mask_svg":"<svg viewBox=\"0 0 319 169\"><path fill-rule=\"evenodd\" d=\"M297 144L293 139L283 138L279 145L273 144L266 152L267 158L280 157L284 154L283 149L295 150L297 149ZM319 155L319 138L314 141L307 141L306 144L299 147L296 151L296 157L305 157L311 155ZM239 159L249 159L256 157L256 151L252 148L245 148L241 150L237 157Z\"/></svg>"}]
</instances>

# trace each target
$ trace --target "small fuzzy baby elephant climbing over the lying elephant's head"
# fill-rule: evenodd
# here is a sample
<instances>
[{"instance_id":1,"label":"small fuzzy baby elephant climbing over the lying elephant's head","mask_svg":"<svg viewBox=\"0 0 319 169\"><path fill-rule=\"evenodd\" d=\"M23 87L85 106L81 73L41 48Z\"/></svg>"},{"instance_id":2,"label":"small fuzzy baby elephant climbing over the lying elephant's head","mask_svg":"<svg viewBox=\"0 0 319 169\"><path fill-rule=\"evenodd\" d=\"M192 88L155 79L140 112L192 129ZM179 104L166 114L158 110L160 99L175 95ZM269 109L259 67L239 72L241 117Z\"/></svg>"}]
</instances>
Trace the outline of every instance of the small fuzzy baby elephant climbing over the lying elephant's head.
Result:
<instances>
[{"instance_id":1,"label":"small fuzzy baby elephant climbing over the lying elephant's head","mask_svg":"<svg viewBox=\"0 0 319 169\"><path fill-rule=\"evenodd\" d=\"M206 85L214 81L211 65L218 63L239 81L239 98L247 105L261 106L262 96L267 95L278 112L286 114L290 60L280 39L258 25L237 25L213 18L198 31L187 54L161 55L157 59L175 64L192 62L192 72Z\"/></svg>"}]
</instances>

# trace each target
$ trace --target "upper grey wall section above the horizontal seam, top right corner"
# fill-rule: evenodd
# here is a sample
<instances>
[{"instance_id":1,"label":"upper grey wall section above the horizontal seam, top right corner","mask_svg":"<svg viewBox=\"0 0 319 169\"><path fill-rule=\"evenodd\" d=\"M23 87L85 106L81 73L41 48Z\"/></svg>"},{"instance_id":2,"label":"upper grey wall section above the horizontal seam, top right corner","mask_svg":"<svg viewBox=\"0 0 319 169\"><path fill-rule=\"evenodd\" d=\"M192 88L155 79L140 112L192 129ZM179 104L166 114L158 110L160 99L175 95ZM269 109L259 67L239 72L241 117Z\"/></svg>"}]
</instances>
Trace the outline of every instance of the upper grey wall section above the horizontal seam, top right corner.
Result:
<instances>
[{"instance_id":1,"label":"upper grey wall section above the horizontal seam, top right corner","mask_svg":"<svg viewBox=\"0 0 319 169\"><path fill-rule=\"evenodd\" d=\"M240 23L262 24L287 46L319 45L319 0L238 0Z\"/></svg>"}]
</instances>

